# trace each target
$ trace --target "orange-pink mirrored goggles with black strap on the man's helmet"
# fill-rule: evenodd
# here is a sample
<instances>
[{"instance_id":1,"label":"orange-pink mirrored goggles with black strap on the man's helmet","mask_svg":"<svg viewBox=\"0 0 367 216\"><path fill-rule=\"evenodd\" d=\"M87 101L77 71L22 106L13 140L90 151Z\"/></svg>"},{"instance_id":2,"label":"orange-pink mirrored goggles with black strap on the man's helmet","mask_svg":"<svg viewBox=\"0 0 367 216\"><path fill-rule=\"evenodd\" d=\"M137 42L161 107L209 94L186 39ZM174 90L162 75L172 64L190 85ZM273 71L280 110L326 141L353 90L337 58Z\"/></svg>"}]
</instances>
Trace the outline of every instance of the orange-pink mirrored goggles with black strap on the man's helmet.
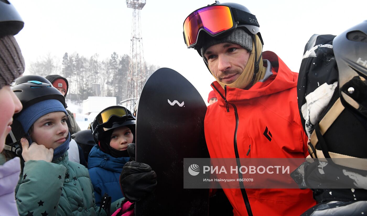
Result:
<instances>
[{"instance_id":1,"label":"orange-pink mirrored goggles with black strap on the man's helmet","mask_svg":"<svg viewBox=\"0 0 367 216\"><path fill-rule=\"evenodd\" d=\"M186 46L193 48L201 30L212 37L236 29L237 26L257 26L255 15L226 5L210 5L192 12L183 22L183 38ZM255 31L252 29L252 31ZM252 34L256 34L253 32Z\"/></svg>"}]
</instances>

